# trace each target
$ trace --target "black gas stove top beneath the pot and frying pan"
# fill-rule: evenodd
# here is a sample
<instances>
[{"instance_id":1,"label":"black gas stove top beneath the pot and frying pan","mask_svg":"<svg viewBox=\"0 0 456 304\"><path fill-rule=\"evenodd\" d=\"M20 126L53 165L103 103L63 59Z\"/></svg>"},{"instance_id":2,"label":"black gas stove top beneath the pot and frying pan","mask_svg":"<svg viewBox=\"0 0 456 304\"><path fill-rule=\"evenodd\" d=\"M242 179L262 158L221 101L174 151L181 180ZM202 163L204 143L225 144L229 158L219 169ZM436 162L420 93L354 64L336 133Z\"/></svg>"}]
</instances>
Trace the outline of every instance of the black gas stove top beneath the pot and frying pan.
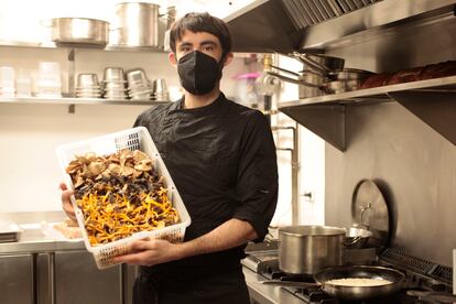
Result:
<instances>
[{"instance_id":1,"label":"black gas stove top beneath the pot and frying pan","mask_svg":"<svg viewBox=\"0 0 456 304\"><path fill-rule=\"evenodd\" d=\"M366 256L366 254L365 254ZM278 251L261 251L251 253L243 260L245 267L261 274L264 280L281 280L293 282L314 282L312 275L286 275L279 269ZM359 264L359 263L358 263ZM302 303L343 304L343 303L366 303L366 304L412 304L412 303L452 303L438 302L435 300L422 300L412 295L417 292L442 292L452 294L452 268L435 264L423 259L412 257L398 249L386 249L380 256L370 261L370 264L389 267L405 274L405 282L401 291L394 295L373 298L366 302L343 302L325 294L319 287L282 287L285 292L293 294ZM426 297L424 297L426 298ZM455 301L456 302L456 301Z\"/></svg>"}]
</instances>

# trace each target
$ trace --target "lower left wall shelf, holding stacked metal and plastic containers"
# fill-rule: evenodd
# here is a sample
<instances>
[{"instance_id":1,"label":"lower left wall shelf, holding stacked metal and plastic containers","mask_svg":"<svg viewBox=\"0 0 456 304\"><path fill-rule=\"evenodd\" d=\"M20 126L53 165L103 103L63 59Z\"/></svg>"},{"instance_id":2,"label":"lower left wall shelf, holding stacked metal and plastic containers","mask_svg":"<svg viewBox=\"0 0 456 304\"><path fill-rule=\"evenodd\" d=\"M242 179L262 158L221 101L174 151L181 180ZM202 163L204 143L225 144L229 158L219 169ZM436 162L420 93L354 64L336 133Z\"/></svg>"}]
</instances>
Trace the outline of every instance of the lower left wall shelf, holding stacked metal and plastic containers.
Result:
<instances>
[{"instance_id":1,"label":"lower left wall shelf, holding stacked metal and plastic containers","mask_svg":"<svg viewBox=\"0 0 456 304\"><path fill-rule=\"evenodd\" d=\"M102 98L43 98L43 97L0 97L0 104L35 104L35 105L128 105L128 106L153 106L164 105L172 101L152 101L152 100L111 100Z\"/></svg>"}]
</instances>

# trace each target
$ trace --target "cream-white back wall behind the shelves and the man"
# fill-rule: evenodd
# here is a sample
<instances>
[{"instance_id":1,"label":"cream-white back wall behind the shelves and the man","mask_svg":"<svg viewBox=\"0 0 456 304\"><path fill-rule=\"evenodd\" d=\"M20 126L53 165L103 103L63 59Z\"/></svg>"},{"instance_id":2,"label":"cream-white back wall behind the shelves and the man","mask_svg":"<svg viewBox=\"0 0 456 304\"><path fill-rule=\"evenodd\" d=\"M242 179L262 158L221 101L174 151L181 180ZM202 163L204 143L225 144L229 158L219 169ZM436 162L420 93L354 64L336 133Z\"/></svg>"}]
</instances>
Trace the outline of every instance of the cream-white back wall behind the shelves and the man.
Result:
<instances>
[{"instance_id":1,"label":"cream-white back wall behind the shelves and the man","mask_svg":"<svg viewBox=\"0 0 456 304\"><path fill-rule=\"evenodd\" d=\"M0 2L0 41L50 41L50 31L40 25L48 18L87 17L110 21L115 14L113 0L102 1L26 1L6 0ZM185 2L185 1L181 1ZM180 1L162 1L160 4L181 6ZM188 1L187 1L188 2ZM181 6L177 11L203 11L204 1L196 6ZM230 2L230 4L229 4ZM247 4L249 1L224 1L213 6L218 17ZM219 3L220 4L220 3ZM28 8L24 10L23 8ZM210 10L210 6L206 6ZM220 10L220 8L226 8ZM14 31L11 31L14 29ZM39 62L58 62L62 69L63 91L67 91L66 48L0 47L0 66L14 67L19 74L36 78ZM124 69L142 67L151 79L165 78L171 87L178 87L175 70L167 63L165 53L102 52L99 50L76 50L76 74L97 73L102 78L106 66L121 66ZM235 61L225 69L221 88L228 97L239 97L238 83L232 79L247 72L246 54L237 54ZM293 62L283 58L281 64L293 67ZM273 97L274 106L279 100L295 100L297 88L283 84ZM0 213L61 209L58 183L62 172L57 164L55 148L59 144L102 135L108 132L130 128L135 117L146 106L95 106L78 105L75 113L68 112L67 105L24 105L0 102ZM294 126L283 115L273 118L273 123ZM302 185L303 189L316 193L313 202L301 200L300 222L323 222L324 199L324 145L323 141L304 128L300 128L302 139ZM274 133L278 146L292 148L292 137L287 131ZM305 151L305 152L304 152ZM291 155L278 152L280 163L280 194L278 211L272 226L291 224Z\"/></svg>"}]
</instances>

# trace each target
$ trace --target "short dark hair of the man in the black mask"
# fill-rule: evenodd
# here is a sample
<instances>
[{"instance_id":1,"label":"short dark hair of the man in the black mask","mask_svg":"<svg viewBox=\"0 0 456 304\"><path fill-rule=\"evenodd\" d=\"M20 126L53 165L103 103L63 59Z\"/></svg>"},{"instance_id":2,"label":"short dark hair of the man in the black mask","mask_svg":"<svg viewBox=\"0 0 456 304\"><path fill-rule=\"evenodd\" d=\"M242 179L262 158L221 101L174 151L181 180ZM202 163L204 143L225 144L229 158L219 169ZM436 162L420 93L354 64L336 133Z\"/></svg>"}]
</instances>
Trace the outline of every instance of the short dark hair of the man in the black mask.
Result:
<instances>
[{"instance_id":1,"label":"short dark hair of the man in the black mask","mask_svg":"<svg viewBox=\"0 0 456 304\"><path fill-rule=\"evenodd\" d=\"M170 30L170 47L176 53L176 42L182 40L185 31L194 33L206 32L218 37L221 44L221 58L231 52L231 34L227 24L210 14L206 13L187 13L183 18L176 20Z\"/></svg>"}]
</instances>

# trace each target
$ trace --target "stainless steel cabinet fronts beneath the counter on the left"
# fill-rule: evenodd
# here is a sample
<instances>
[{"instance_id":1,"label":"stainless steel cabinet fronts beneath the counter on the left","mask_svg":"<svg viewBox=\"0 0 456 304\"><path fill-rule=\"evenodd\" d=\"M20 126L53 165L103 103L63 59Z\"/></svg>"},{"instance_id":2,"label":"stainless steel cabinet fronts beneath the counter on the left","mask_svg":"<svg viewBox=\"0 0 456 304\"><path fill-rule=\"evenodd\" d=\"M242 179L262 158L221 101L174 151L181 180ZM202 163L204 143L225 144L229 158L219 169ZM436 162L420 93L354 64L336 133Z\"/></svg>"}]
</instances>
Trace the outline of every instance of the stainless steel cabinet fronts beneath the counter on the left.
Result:
<instances>
[{"instance_id":1,"label":"stainless steel cabinet fronts beneath the counter on the left","mask_svg":"<svg viewBox=\"0 0 456 304\"><path fill-rule=\"evenodd\" d=\"M0 256L0 303L132 304L135 267L99 270L85 250Z\"/></svg>"}]
</instances>

